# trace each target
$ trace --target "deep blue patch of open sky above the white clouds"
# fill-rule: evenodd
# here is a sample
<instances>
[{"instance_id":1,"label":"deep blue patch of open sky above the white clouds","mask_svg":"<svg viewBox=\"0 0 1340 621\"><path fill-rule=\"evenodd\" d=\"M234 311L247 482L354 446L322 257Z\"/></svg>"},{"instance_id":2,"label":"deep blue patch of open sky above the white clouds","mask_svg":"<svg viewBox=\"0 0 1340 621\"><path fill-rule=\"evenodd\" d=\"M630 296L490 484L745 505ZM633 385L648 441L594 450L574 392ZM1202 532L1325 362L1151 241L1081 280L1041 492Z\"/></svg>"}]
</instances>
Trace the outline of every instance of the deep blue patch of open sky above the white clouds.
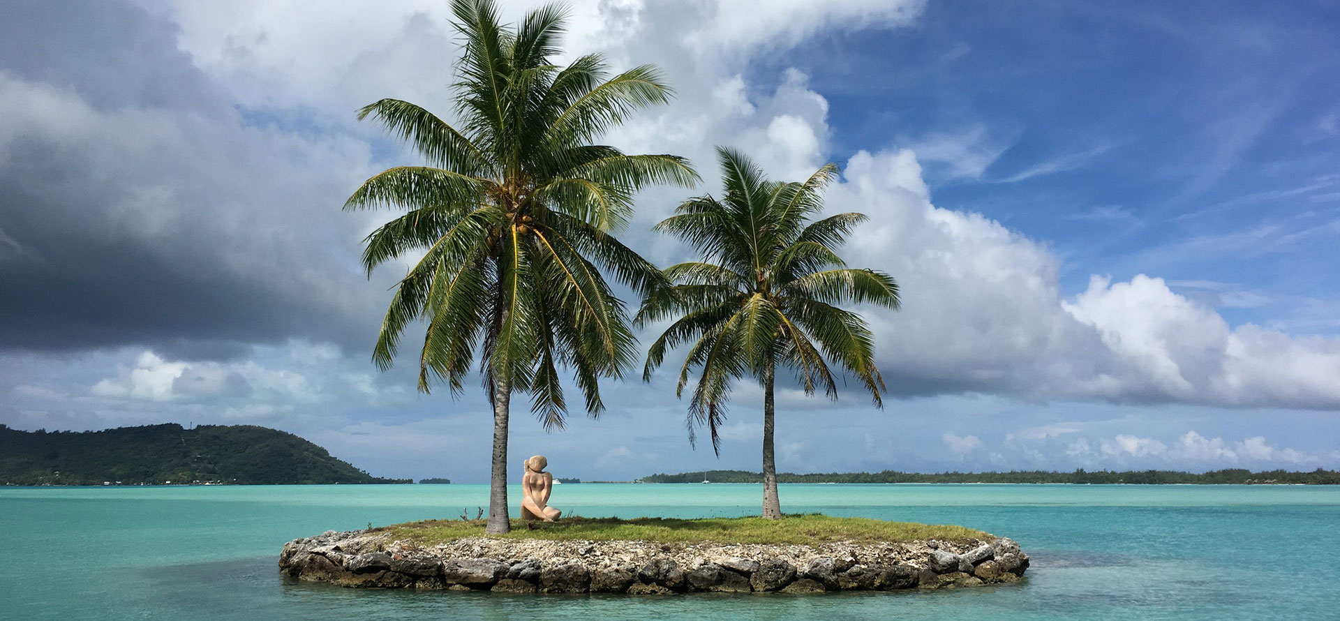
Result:
<instances>
[{"instance_id":1,"label":"deep blue patch of open sky above the white clouds","mask_svg":"<svg viewBox=\"0 0 1340 621\"><path fill-rule=\"evenodd\" d=\"M1045 240L1068 290L1156 273L1234 297L1233 323L1335 333L1335 23L1308 3L931 3L775 66L828 98L835 150L941 145L935 203Z\"/></svg>"}]
</instances>

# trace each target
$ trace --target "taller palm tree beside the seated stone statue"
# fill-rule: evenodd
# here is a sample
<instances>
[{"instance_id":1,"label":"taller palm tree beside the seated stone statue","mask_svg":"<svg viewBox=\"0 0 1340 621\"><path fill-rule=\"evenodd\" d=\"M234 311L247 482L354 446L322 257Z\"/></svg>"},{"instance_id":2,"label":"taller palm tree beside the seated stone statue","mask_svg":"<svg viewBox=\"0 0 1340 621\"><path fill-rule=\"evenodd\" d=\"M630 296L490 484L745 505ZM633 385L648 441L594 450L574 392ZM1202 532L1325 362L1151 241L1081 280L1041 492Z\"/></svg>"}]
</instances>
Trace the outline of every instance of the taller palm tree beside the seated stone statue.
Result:
<instances>
[{"instance_id":1,"label":"taller palm tree beside the seated stone statue","mask_svg":"<svg viewBox=\"0 0 1340 621\"><path fill-rule=\"evenodd\" d=\"M359 110L427 163L367 179L344 209L407 211L364 240L368 276L422 253L395 286L373 360L390 368L406 324L422 319L418 388L445 381L458 396L478 355L493 406L486 531L505 533L512 393L529 393L544 427L561 428L561 367L587 412L602 411L598 380L620 377L635 357L623 302L602 270L639 292L662 278L610 230L631 215L638 189L691 186L697 175L683 158L591 143L630 112L669 100L658 68L608 78L599 55L555 66L564 12L553 5L516 27L498 23L490 0L454 0L452 11L462 39L458 126L397 99Z\"/></svg>"}]
</instances>

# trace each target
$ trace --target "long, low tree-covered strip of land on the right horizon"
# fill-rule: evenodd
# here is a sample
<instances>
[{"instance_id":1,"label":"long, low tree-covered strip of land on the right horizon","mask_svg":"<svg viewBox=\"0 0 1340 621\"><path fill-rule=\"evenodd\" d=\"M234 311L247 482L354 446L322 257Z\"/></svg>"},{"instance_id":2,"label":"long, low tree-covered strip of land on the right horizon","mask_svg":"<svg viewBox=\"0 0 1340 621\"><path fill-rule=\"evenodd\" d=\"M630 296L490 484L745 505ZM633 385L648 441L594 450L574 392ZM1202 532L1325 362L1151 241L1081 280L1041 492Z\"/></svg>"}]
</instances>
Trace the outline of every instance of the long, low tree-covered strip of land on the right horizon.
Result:
<instances>
[{"instance_id":1,"label":"long, low tree-covered strip of land on the right horizon","mask_svg":"<svg viewBox=\"0 0 1340 621\"><path fill-rule=\"evenodd\" d=\"M681 474L654 474L643 476L643 483L762 483L762 472L745 470L709 470ZM1340 471L1317 468L1311 472L1270 470L1214 470L1203 474L1171 470L1140 470L1114 472L1108 470L1049 472L1043 470L1010 472L777 472L780 483L1128 483L1128 484L1340 484Z\"/></svg>"}]
</instances>

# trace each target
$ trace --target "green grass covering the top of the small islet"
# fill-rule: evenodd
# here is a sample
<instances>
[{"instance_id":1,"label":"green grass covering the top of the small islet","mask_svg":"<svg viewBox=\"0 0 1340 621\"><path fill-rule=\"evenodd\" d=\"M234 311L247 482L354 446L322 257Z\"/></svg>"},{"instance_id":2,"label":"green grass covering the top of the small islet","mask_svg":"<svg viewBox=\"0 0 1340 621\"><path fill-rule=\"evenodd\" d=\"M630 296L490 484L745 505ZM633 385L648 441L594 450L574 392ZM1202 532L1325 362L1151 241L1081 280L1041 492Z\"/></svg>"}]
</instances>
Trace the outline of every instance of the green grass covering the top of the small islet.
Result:
<instances>
[{"instance_id":1,"label":"green grass covering the top of the small islet","mask_svg":"<svg viewBox=\"0 0 1340 621\"><path fill-rule=\"evenodd\" d=\"M484 522L429 519L374 530L390 533L397 539L431 546L462 537L482 537ZM785 515L776 521L762 518L563 518L557 522L524 522L513 519L511 533L489 537L553 541L654 541L662 543L823 543L838 541L963 541L989 539L992 535L962 526L808 514Z\"/></svg>"}]
</instances>

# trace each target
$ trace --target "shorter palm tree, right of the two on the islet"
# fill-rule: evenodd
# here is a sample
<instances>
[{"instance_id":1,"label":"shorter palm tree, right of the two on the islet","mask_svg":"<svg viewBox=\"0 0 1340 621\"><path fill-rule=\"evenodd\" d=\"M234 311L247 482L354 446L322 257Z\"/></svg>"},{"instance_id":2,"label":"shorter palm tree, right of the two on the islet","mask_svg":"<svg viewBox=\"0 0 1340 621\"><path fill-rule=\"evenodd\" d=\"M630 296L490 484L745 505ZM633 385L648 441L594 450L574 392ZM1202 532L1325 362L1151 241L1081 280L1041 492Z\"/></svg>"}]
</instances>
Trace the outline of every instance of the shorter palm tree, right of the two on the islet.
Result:
<instances>
[{"instance_id":1,"label":"shorter palm tree, right of the two on the islet","mask_svg":"<svg viewBox=\"0 0 1340 621\"><path fill-rule=\"evenodd\" d=\"M888 274L850 269L836 254L844 237L866 221L859 213L811 218L823 210L823 189L838 175L833 165L804 183L768 181L745 155L717 149L725 179L722 199L704 195L679 205L657 225L704 254L704 261L667 268L674 284L650 293L638 325L677 320L647 352L643 379L667 349L689 344L675 393L699 371L689 402L689 440L706 424L720 454L717 428L725 418L730 383L750 376L762 384L762 517L781 517L773 459L773 385L777 367L795 371L807 395L821 387L838 396L829 360L854 375L883 407L884 381L875 368L874 337L866 320L836 305L870 302L898 308L898 285Z\"/></svg>"}]
</instances>

